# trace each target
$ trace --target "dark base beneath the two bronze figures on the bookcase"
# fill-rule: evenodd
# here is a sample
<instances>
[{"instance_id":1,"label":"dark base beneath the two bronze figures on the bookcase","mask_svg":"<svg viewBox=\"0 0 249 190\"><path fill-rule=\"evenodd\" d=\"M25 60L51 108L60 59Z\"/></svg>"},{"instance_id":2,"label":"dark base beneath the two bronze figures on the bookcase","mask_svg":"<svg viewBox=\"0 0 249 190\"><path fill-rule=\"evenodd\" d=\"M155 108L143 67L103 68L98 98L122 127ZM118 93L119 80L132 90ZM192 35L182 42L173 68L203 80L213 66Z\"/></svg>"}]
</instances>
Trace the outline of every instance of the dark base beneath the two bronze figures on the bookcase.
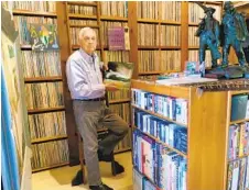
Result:
<instances>
[{"instance_id":1,"label":"dark base beneath the two bronze figures on the bookcase","mask_svg":"<svg viewBox=\"0 0 249 190\"><path fill-rule=\"evenodd\" d=\"M249 67L228 66L217 67L206 70L205 78L217 78L217 79L237 79L237 78L249 78Z\"/></svg>"}]
</instances>

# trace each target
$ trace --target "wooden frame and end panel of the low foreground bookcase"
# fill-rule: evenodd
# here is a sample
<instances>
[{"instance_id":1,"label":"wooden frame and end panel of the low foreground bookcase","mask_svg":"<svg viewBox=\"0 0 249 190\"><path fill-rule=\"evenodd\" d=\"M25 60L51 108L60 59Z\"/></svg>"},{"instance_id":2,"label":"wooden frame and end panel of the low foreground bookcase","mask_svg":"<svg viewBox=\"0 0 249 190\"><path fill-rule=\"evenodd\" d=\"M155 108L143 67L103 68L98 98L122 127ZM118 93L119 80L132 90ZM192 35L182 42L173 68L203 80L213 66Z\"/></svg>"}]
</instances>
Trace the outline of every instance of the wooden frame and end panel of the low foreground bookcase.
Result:
<instances>
[{"instance_id":1,"label":"wooden frame and end panel of the low foreground bookcase","mask_svg":"<svg viewBox=\"0 0 249 190\"><path fill-rule=\"evenodd\" d=\"M234 160L228 160L229 126L234 123L249 121L249 119L245 119L241 121L230 122L231 96L249 94L249 90L204 91L199 97L194 87L167 87L158 85L153 81L141 80L133 80L131 87L132 89L145 92L187 100L187 154L182 155L177 149L165 146L187 159L187 190L226 190L228 165L249 156L242 155ZM214 104L216 107L214 107ZM134 109L140 109L137 105L132 107ZM174 121L170 121L169 119L154 114L151 111L143 109L140 110L159 119L175 123ZM150 134L145 133L144 135L153 138L155 142L160 142L156 137ZM152 180L151 182L153 183Z\"/></svg>"}]
</instances>

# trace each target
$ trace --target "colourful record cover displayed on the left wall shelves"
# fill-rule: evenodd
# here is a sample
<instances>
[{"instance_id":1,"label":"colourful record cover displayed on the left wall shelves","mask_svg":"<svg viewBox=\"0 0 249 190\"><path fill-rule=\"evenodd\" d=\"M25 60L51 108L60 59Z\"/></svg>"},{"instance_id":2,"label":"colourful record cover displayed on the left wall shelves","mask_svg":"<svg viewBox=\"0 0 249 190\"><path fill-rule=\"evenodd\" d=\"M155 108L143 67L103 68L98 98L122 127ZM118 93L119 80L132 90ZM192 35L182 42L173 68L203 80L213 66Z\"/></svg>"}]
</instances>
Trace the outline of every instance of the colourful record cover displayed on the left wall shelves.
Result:
<instances>
[{"instance_id":1,"label":"colourful record cover displayed on the left wall shelves","mask_svg":"<svg viewBox=\"0 0 249 190\"><path fill-rule=\"evenodd\" d=\"M53 51L59 48L55 24L30 24L29 32L33 51Z\"/></svg>"}]
</instances>

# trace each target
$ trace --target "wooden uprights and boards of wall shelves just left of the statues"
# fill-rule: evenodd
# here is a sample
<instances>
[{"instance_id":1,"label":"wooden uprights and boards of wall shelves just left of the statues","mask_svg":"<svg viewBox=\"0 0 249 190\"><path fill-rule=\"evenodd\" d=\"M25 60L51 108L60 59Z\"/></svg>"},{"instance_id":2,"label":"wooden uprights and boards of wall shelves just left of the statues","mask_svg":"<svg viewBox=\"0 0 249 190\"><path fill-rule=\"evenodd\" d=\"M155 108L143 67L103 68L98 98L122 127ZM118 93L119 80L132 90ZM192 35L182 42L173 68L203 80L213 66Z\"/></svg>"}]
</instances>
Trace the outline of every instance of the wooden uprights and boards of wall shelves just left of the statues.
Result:
<instances>
[{"instance_id":1,"label":"wooden uprights and boards of wall shelves just left of the statues","mask_svg":"<svg viewBox=\"0 0 249 190\"><path fill-rule=\"evenodd\" d=\"M167 54L170 54L170 52L172 52L172 51L176 51L176 52L180 51L181 53L180 53L180 57L178 57L178 62L180 62L178 64L181 65L180 68L182 69L182 68L184 68L184 64L185 64L185 60L187 58L187 54L185 53L187 51L187 47L185 47L186 45L185 45L185 41L184 41L184 38L186 38L186 33L185 33L186 32L185 31L185 25L186 25L185 24L185 19L186 19L186 16L184 16L184 15L185 15L185 13L187 13L187 11L186 11L187 2L181 2L181 7L182 8L181 8L181 11L180 11L181 12L181 20L180 21L166 20L166 19L162 20L161 18L163 18L162 16L163 12L162 12L162 8L161 7L162 7L162 3L164 3L164 2L158 2L158 3L159 3L159 8L158 8L159 9L158 10L159 18L158 19L152 19L152 18L144 19L144 18L138 18L137 2L130 2L130 4L131 4L130 5L131 7L130 12L131 12L132 18L133 18L132 24L134 25L133 26L133 31L136 32L134 33L134 38L131 42L132 42L132 46L134 46L134 47L138 46L138 48L132 51L132 52L133 52L133 54L139 55L140 54L139 51L143 51L143 52L151 51L148 54L151 54L151 55L153 54L153 56L155 56L154 55L155 53L153 53L152 51L156 51L156 53L159 52L159 55L158 55L159 56L159 58L158 58L159 60L158 62L161 65L160 67L162 67L162 70L166 70L169 68L163 68L164 67L163 62L164 62L164 59L166 59L166 57L163 57L165 55L162 54L162 52L166 52ZM142 9L142 8L140 8L140 9L142 11L144 11L144 9ZM137 19L134 19L134 18L137 18ZM176 26L180 30L180 36L178 36L180 44L176 45L176 46L174 46L174 45L166 45L166 46L162 45L163 44L162 43L163 38L162 38L161 35L158 35L159 36L159 42L160 42L159 45L153 45L153 46L140 45L139 42L138 42L138 38L139 38L138 37L138 35L139 35L139 33L138 33L138 31L139 31L138 27L139 26L138 25L139 24L156 25L156 26L159 26L159 33L162 33L162 30L164 30L164 27ZM174 42L174 43L176 43L176 42ZM138 65L137 67L139 67L139 64L142 64L141 60L139 60L138 56L136 56L134 60L136 60L136 65ZM152 62L154 62L154 60L152 60ZM156 64L158 63L155 63L155 65ZM150 68L152 66L148 66L148 67ZM166 71L169 71L169 70L166 70ZM142 76L152 76L152 75L156 76L158 74L155 74L155 72L156 72L156 70L153 70L153 69L149 71L148 68L142 68L142 69L136 68L134 78L138 78L139 76L141 76L141 74L142 74Z\"/></svg>"}]
</instances>

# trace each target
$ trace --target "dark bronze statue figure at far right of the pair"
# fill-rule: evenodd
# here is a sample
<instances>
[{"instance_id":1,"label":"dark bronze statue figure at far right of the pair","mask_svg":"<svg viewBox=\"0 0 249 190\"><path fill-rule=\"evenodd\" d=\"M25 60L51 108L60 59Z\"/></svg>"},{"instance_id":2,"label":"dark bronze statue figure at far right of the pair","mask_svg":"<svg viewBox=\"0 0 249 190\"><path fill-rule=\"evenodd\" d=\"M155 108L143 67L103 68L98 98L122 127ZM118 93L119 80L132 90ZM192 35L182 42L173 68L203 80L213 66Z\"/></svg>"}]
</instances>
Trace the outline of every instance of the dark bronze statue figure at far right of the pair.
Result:
<instances>
[{"instance_id":1,"label":"dark bronze statue figure at far right of the pair","mask_svg":"<svg viewBox=\"0 0 249 190\"><path fill-rule=\"evenodd\" d=\"M221 29L224 32L223 67L228 66L228 54L230 46L232 46L238 57L240 67L246 70L246 58L242 51L242 42L246 41L249 33L247 31L243 14L238 13L230 1L226 1L224 4Z\"/></svg>"}]
</instances>

